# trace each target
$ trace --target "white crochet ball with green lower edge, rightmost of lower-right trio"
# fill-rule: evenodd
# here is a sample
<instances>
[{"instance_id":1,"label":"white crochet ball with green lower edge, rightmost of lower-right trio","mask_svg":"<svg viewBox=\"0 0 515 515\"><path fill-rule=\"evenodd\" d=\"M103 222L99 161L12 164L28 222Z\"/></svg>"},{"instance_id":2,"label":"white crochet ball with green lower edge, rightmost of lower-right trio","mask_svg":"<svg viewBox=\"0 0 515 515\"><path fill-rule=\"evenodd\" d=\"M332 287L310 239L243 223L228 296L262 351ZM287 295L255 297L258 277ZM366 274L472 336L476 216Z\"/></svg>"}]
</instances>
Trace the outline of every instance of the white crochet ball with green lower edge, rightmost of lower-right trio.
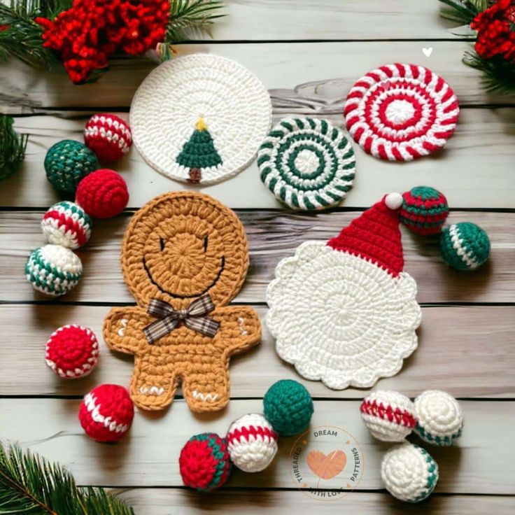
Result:
<instances>
[{"instance_id":1,"label":"white crochet ball with green lower edge, rightmost of lower-right trio","mask_svg":"<svg viewBox=\"0 0 515 515\"><path fill-rule=\"evenodd\" d=\"M463 415L458 401L449 393L427 390L415 399L418 418L416 434L429 444L448 446L460 437Z\"/></svg>"}]
</instances>

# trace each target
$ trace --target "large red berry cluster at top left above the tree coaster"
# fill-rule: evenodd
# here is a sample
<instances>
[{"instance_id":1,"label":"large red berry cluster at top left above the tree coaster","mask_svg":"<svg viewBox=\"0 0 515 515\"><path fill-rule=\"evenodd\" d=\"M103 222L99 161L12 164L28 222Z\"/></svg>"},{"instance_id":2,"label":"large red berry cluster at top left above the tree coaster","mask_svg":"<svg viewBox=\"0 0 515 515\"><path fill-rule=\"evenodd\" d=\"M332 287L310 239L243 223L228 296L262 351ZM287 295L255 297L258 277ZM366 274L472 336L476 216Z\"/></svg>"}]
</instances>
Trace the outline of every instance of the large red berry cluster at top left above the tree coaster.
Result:
<instances>
[{"instance_id":1,"label":"large red berry cluster at top left above the tree coaster","mask_svg":"<svg viewBox=\"0 0 515 515\"><path fill-rule=\"evenodd\" d=\"M114 52L139 55L163 40L169 0L74 0L55 20L38 17L43 46L60 52L74 83L105 68Z\"/></svg>"}]
</instances>

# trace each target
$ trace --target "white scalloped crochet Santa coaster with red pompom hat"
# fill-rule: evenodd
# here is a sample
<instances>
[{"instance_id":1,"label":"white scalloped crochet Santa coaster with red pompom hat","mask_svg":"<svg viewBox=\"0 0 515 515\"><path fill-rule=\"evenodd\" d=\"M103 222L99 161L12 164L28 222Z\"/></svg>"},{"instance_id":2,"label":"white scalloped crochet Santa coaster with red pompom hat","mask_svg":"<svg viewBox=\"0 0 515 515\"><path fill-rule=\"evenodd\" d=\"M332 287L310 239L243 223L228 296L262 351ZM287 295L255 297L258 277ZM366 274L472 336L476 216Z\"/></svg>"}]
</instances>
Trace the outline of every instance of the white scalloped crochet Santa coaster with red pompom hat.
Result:
<instances>
[{"instance_id":1,"label":"white scalloped crochet Santa coaster with red pompom hat","mask_svg":"<svg viewBox=\"0 0 515 515\"><path fill-rule=\"evenodd\" d=\"M304 378L368 388L416 349L421 309L403 271L400 204L386 195L327 244L306 241L277 265L267 325L278 355Z\"/></svg>"}]
</instances>

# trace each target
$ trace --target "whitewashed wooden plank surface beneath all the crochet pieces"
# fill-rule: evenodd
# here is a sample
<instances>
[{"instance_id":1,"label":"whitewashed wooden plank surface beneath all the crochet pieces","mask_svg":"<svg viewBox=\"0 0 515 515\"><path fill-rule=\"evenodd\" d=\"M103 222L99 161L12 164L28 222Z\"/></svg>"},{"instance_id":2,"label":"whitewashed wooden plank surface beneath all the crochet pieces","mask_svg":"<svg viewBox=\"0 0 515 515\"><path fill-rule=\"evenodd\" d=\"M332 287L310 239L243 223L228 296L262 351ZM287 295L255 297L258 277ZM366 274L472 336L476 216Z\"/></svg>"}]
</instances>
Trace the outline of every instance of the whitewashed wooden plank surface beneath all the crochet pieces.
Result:
<instances>
[{"instance_id":1,"label":"whitewashed wooden plank surface beneath all the crochet pieces","mask_svg":"<svg viewBox=\"0 0 515 515\"><path fill-rule=\"evenodd\" d=\"M281 442L274 465L261 474L236 472L209 499L181 487L178 453L188 437L227 430L249 411L260 411L268 386L299 379L277 357L264 326L262 344L232 361L232 401L220 414L194 416L179 395L162 414L136 414L119 444L102 446L83 435L76 420L80 396L99 383L127 384L130 357L110 353L101 342L101 362L83 381L59 381L43 360L48 335L59 325L80 323L100 336L112 305L134 302L122 281L120 241L130 216L155 195L185 188L157 174L135 148L115 165L127 180L127 211L95 223L80 251L84 278L70 295L48 299L24 281L23 264L43 241L41 215L57 200L45 179L46 150L60 139L81 139L87 117L111 111L127 117L151 59L115 59L98 83L73 86L62 73L42 73L17 62L1 64L0 111L15 115L29 134L22 170L0 183L0 437L68 465L80 484L114 488L136 514L210 512L313 512L350 510L366 514L512 514L515 511L515 98L486 94L480 74L460 62L470 41L438 17L437 0L226 0L227 13L213 39L178 45L180 54L211 52L237 59L270 90L274 119L313 115L343 125L346 93L362 74L388 62L414 62L449 81L460 99L460 122L446 150L407 164L365 155L357 146L355 187L326 213L291 213L276 203L251 164L230 181L199 188L220 199L243 220L251 268L236 302L251 304L264 318L264 289L281 258L305 239L325 240L385 192L428 184L449 198L450 220L473 221L492 241L488 265L471 274L446 267L435 240L403 230L406 269L418 283L423 305L419 348L400 374L376 388L414 397L428 388L460 398L465 432L451 449L430 449L440 466L435 495L423 505L401 505L383 490L379 463L385 444L360 421L367 390L332 391L300 379L316 398L313 425L341 425L363 448L367 463L358 491L334 503L316 502L290 482L288 453ZM432 47L430 57L423 48ZM190 187L191 188L191 187ZM209 507L206 503L209 502Z\"/></svg>"}]
</instances>

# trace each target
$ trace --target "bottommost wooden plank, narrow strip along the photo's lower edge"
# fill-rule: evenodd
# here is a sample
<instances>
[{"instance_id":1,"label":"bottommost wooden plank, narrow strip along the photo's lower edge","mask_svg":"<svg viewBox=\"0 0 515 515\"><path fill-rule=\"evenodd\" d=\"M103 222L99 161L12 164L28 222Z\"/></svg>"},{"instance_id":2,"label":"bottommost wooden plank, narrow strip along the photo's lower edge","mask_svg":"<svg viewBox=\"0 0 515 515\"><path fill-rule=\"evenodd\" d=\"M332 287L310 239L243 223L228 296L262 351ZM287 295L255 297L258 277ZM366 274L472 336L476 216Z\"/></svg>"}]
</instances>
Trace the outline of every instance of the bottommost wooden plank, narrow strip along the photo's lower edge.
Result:
<instances>
[{"instance_id":1,"label":"bottommost wooden plank, narrow strip along the photo's lower edge","mask_svg":"<svg viewBox=\"0 0 515 515\"><path fill-rule=\"evenodd\" d=\"M183 489L132 488L114 490L132 505L136 514L152 515L198 514L206 509L206 497ZM318 502L298 491L218 491L209 495L209 511L248 515L334 513L366 515L484 515L493 512L509 515L515 511L515 499L482 495L432 495L429 502L410 505L401 503L387 493L354 492L334 502Z\"/></svg>"}]
</instances>

